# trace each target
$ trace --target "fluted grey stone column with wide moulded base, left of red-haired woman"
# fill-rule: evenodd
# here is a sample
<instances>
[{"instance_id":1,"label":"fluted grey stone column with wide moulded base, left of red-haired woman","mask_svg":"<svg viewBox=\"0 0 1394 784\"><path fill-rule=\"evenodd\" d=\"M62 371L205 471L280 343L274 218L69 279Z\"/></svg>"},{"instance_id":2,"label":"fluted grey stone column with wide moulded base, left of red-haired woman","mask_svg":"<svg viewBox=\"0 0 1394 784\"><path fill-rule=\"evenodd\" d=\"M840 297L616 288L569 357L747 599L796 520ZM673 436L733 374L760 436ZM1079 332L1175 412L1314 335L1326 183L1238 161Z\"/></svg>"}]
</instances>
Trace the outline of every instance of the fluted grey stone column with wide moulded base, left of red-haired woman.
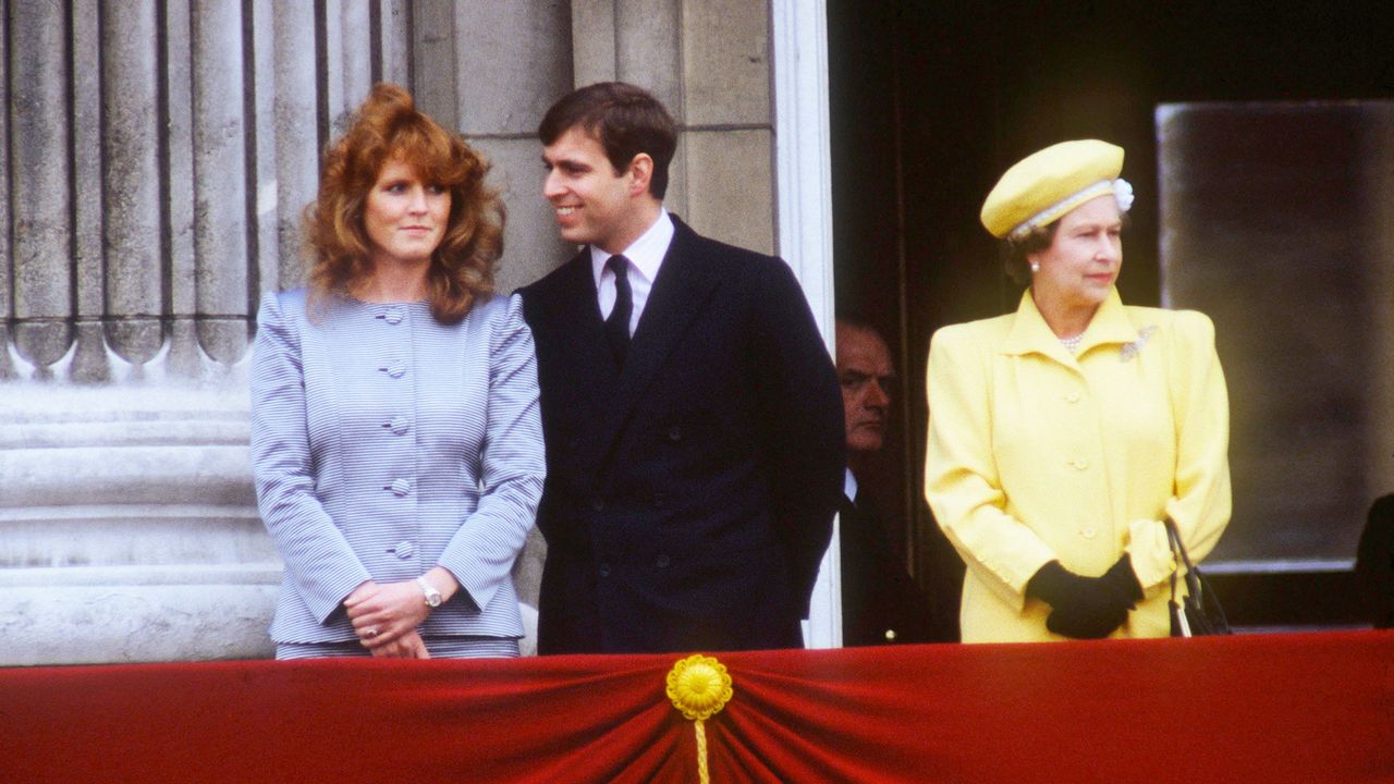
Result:
<instances>
[{"instance_id":1,"label":"fluted grey stone column with wide moulded base, left of red-haired woman","mask_svg":"<svg viewBox=\"0 0 1394 784\"><path fill-rule=\"evenodd\" d=\"M300 285L321 145L410 81L410 17L0 3L0 665L270 653L251 308Z\"/></svg>"}]
</instances>

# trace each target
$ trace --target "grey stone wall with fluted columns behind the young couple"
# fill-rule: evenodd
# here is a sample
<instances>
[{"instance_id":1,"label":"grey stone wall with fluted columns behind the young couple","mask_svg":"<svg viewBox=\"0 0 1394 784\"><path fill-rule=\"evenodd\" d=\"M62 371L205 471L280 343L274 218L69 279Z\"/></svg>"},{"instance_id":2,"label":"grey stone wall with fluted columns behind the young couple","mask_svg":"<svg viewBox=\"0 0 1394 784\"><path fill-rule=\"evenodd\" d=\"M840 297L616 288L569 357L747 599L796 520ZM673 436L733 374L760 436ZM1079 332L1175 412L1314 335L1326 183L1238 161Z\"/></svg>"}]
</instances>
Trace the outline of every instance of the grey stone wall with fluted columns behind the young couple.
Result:
<instances>
[{"instance_id":1,"label":"grey stone wall with fluted columns behind the young couple","mask_svg":"<svg viewBox=\"0 0 1394 784\"><path fill-rule=\"evenodd\" d=\"M492 159L505 290L573 252L534 130L599 80L648 86L682 124L671 209L772 251L769 17L746 0L0 0L0 664L270 653L280 565L250 478L247 349L261 292L302 279L319 149L375 81ZM542 550L520 562L524 601Z\"/></svg>"}]
</instances>

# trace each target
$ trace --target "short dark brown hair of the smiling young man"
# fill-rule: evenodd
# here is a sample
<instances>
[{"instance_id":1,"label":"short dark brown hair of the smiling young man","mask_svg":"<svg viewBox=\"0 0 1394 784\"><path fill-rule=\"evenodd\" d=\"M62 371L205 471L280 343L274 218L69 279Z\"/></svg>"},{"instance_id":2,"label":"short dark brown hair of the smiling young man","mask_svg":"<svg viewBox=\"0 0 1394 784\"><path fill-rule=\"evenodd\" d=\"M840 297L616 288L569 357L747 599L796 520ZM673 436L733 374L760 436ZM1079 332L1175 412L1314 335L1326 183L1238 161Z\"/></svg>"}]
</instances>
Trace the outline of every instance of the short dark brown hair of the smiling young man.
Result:
<instances>
[{"instance_id":1,"label":"short dark brown hair of the smiling young man","mask_svg":"<svg viewBox=\"0 0 1394 784\"><path fill-rule=\"evenodd\" d=\"M616 174L636 155L648 153L654 159L648 193L658 199L668 193L668 165L677 151L677 127L647 89L627 82L598 82L573 91L546 110L537 137L551 145L572 128L583 128L601 142Z\"/></svg>"}]
</instances>

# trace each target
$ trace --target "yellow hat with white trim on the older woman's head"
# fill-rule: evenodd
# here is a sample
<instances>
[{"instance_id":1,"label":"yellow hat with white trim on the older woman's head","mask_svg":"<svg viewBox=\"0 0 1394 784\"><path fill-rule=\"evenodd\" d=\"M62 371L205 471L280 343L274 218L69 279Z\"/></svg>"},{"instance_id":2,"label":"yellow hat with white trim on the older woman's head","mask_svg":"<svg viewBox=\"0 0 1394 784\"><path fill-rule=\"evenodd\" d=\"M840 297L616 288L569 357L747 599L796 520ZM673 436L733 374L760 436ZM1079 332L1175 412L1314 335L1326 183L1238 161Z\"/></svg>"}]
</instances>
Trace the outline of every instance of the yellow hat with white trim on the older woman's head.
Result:
<instances>
[{"instance_id":1,"label":"yellow hat with white trim on the older woman's head","mask_svg":"<svg viewBox=\"0 0 1394 784\"><path fill-rule=\"evenodd\" d=\"M1064 141L1047 146L1002 174L983 202L983 226L999 239L1025 234L1104 194L1118 195L1119 209L1126 211L1132 204L1132 186L1118 180L1122 170L1124 148L1105 141Z\"/></svg>"}]
</instances>

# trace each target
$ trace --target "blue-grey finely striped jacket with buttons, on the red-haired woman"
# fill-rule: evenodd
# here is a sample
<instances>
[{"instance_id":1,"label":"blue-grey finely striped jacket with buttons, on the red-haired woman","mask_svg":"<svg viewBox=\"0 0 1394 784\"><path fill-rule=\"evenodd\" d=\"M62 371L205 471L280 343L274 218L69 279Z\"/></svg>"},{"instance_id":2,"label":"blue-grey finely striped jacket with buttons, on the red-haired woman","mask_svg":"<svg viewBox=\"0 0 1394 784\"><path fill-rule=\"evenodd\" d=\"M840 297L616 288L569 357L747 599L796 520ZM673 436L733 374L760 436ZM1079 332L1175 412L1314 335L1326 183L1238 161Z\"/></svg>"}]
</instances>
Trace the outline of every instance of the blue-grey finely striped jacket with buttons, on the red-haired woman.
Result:
<instances>
[{"instance_id":1,"label":"blue-grey finely striped jacket with buttons, on the red-haired woman","mask_svg":"<svg viewBox=\"0 0 1394 784\"><path fill-rule=\"evenodd\" d=\"M424 635L521 636L510 569L545 473L521 300L453 326L425 303L305 301L266 294L252 350L252 474L286 561L272 639L353 640L354 587L435 565L463 590Z\"/></svg>"}]
</instances>

